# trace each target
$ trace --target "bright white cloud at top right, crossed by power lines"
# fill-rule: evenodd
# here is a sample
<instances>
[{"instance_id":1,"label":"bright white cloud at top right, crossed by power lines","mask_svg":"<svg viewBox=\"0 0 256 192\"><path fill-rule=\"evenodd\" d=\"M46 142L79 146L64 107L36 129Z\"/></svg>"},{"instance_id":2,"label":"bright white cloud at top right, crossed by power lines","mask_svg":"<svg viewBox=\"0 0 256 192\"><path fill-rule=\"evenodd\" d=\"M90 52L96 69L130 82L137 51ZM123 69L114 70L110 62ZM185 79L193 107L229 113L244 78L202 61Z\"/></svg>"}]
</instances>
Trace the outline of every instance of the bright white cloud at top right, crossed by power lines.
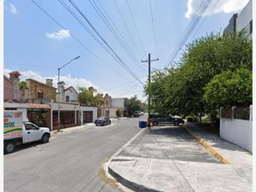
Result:
<instances>
[{"instance_id":1,"label":"bright white cloud at top right, crossed by power lines","mask_svg":"<svg viewBox=\"0 0 256 192\"><path fill-rule=\"evenodd\" d=\"M208 11L202 15L213 15L218 13L236 13L243 9L249 0L219 0L215 6L216 2L213 2L209 5ZM186 18L190 18L193 14L195 14L196 10L199 8L201 0L187 0L187 12L185 14ZM212 9L214 7L214 9Z\"/></svg>"}]
</instances>

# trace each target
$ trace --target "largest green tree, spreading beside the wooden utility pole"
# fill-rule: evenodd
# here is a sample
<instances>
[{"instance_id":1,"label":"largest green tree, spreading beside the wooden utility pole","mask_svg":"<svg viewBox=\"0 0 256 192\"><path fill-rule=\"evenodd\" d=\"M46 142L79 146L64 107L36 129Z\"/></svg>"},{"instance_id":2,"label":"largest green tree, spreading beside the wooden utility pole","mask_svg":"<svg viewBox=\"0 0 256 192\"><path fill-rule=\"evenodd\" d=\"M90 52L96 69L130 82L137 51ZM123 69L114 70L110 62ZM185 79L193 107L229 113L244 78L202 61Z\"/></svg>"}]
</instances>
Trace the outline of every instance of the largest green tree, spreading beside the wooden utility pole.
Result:
<instances>
[{"instance_id":1,"label":"largest green tree, spreading beside the wooden utility pole","mask_svg":"<svg viewBox=\"0 0 256 192\"><path fill-rule=\"evenodd\" d=\"M153 108L165 113L201 117L210 112L205 86L215 75L237 68L252 71L252 41L243 33L210 34L187 45L176 68L153 73ZM148 85L145 91L148 91ZM200 118L201 119L201 118Z\"/></svg>"}]
</instances>

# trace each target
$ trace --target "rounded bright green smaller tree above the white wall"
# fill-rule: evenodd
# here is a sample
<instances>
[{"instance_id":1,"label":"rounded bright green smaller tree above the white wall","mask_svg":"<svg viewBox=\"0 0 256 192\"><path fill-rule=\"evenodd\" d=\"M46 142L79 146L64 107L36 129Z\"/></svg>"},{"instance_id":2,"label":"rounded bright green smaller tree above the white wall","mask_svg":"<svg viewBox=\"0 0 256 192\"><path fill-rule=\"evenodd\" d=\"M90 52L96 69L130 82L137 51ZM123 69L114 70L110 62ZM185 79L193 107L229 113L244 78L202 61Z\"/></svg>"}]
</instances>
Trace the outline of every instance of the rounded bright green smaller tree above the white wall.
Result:
<instances>
[{"instance_id":1,"label":"rounded bright green smaller tree above the white wall","mask_svg":"<svg viewBox=\"0 0 256 192\"><path fill-rule=\"evenodd\" d=\"M224 71L205 87L204 99L212 108L245 106L253 102L253 73L246 68Z\"/></svg>"}]
</instances>

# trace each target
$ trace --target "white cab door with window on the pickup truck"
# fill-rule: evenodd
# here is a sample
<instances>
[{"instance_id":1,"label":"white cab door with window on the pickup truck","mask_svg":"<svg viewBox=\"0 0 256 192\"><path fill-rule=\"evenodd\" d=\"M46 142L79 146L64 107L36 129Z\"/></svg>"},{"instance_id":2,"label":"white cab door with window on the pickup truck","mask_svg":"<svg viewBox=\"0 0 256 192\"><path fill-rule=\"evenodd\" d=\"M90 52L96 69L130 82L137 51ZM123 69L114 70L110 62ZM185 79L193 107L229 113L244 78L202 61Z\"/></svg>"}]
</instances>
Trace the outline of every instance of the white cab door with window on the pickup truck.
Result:
<instances>
[{"instance_id":1,"label":"white cab door with window on the pickup truck","mask_svg":"<svg viewBox=\"0 0 256 192\"><path fill-rule=\"evenodd\" d=\"M37 125L33 125L32 123L25 123L25 131L23 134L23 143L29 143L38 141L41 139L40 130Z\"/></svg>"}]
</instances>

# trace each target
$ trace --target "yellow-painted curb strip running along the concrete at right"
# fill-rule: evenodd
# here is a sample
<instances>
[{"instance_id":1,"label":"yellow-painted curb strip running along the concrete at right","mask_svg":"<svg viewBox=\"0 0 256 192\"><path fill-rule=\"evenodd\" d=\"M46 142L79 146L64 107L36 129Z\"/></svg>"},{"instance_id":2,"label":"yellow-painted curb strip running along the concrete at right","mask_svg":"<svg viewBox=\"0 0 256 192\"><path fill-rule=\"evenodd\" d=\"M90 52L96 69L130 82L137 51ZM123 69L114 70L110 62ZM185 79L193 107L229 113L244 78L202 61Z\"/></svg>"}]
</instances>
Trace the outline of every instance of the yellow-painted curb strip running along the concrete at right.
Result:
<instances>
[{"instance_id":1,"label":"yellow-painted curb strip running along the concrete at right","mask_svg":"<svg viewBox=\"0 0 256 192\"><path fill-rule=\"evenodd\" d=\"M224 157L224 155L220 154L215 148L213 148L210 144L208 144L205 140L203 140L201 137L198 137L194 132L190 131L189 128L185 125L183 125L185 130L189 131L189 133L195 137L196 141L198 143L201 143L205 148L207 148L214 156L218 158L218 160L222 161L224 164L232 164L230 160Z\"/></svg>"}]
</instances>

